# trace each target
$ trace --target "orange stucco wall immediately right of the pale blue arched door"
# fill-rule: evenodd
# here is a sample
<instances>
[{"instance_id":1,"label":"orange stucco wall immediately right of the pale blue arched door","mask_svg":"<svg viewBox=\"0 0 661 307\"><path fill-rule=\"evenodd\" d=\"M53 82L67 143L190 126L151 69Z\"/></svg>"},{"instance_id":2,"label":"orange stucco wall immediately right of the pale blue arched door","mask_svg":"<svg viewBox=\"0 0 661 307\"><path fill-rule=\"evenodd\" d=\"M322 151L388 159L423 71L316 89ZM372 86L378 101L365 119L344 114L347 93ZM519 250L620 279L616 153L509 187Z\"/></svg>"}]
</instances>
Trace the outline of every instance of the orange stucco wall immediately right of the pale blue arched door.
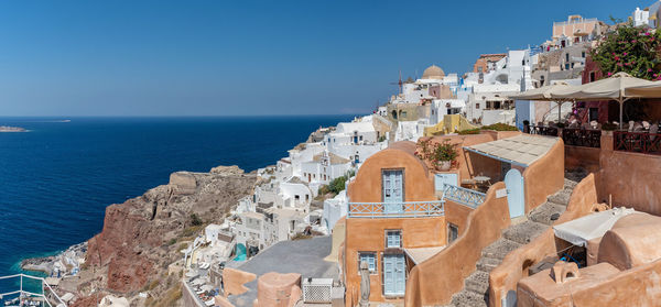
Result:
<instances>
[{"instance_id":1,"label":"orange stucco wall immediately right of the pale blue arched door","mask_svg":"<svg viewBox=\"0 0 661 307\"><path fill-rule=\"evenodd\" d=\"M564 186L564 142L557 142L551 150L528 166L523 172L525 189L525 213L546 201L549 195Z\"/></svg>"}]
</instances>

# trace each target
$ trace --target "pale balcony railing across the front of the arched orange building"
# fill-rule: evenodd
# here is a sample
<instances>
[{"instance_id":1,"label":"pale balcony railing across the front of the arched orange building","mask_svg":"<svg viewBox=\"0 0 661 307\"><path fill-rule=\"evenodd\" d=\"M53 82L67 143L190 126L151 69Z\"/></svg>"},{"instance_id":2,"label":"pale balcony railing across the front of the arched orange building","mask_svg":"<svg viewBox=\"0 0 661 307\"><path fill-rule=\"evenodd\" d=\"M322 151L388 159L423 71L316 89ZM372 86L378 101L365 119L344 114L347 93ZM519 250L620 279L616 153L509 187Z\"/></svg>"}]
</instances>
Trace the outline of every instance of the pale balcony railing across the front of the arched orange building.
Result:
<instances>
[{"instance_id":1,"label":"pale balcony railing across the front of the arched orange building","mask_svg":"<svg viewBox=\"0 0 661 307\"><path fill-rule=\"evenodd\" d=\"M349 202L347 218L424 218L442 217L443 200L408 202Z\"/></svg>"}]
</instances>

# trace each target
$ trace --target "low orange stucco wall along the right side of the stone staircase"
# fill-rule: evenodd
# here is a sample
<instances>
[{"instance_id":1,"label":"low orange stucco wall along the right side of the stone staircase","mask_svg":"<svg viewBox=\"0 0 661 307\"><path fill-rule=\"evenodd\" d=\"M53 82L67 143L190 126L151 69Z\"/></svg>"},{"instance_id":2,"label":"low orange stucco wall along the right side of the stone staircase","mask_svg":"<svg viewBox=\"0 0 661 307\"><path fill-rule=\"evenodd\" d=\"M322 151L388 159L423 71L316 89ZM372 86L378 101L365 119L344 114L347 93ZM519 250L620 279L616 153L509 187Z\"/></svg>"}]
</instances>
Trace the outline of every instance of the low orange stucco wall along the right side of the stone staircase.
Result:
<instances>
[{"instance_id":1,"label":"low orange stucco wall along the right side of the stone staircase","mask_svg":"<svg viewBox=\"0 0 661 307\"><path fill-rule=\"evenodd\" d=\"M570 197L566 211L555 223L563 223L588 215L596 202L595 175L589 174L576 185ZM528 276L530 265L542 261L546 256L555 255L557 251L564 248L564 242L555 240L553 229L549 228L532 242L509 253L502 263L489 274L489 306L500 307L501 299L507 296L508 292L516 292L517 283L522 277Z\"/></svg>"}]
</instances>

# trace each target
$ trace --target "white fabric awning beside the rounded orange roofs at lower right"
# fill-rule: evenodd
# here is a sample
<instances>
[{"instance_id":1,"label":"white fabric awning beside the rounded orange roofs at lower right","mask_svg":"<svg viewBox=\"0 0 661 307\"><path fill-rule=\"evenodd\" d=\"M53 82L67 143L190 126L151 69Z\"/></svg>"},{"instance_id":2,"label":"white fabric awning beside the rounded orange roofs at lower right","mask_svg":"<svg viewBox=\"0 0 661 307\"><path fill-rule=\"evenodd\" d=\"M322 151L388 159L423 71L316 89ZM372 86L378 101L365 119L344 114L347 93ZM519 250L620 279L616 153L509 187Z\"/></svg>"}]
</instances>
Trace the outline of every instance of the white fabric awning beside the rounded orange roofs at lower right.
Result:
<instances>
[{"instance_id":1,"label":"white fabric awning beside the rounded orange roofs at lower right","mask_svg":"<svg viewBox=\"0 0 661 307\"><path fill-rule=\"evenodd\" d=\"M603 237L620 218L636 212L633 209L614 208L553 227L555 237L574 245L586 246L587 241Z\"/></svg>"}]
</instances>

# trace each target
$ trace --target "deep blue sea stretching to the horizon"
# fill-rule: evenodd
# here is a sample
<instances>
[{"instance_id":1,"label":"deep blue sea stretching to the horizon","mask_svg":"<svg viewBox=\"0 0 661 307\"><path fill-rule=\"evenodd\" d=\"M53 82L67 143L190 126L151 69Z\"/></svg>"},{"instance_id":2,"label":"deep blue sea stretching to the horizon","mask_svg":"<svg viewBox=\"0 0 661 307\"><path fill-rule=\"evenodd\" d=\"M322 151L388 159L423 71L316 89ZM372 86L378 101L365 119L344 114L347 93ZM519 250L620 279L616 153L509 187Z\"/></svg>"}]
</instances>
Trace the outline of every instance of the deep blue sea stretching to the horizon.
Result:
<instances>
[{"instance_id":1,"label":"deep blue sea stretching to the horizon","mask_svg":"<svg viewBox=\"0 0 661 307\"><path fill-rule=\"evenodd\" d=\"M273 165L317 128L353 118L0 118L28 130L0 132L0 276L88 240L107 206L173 172Z\"/></svg>"}]
</instances>

